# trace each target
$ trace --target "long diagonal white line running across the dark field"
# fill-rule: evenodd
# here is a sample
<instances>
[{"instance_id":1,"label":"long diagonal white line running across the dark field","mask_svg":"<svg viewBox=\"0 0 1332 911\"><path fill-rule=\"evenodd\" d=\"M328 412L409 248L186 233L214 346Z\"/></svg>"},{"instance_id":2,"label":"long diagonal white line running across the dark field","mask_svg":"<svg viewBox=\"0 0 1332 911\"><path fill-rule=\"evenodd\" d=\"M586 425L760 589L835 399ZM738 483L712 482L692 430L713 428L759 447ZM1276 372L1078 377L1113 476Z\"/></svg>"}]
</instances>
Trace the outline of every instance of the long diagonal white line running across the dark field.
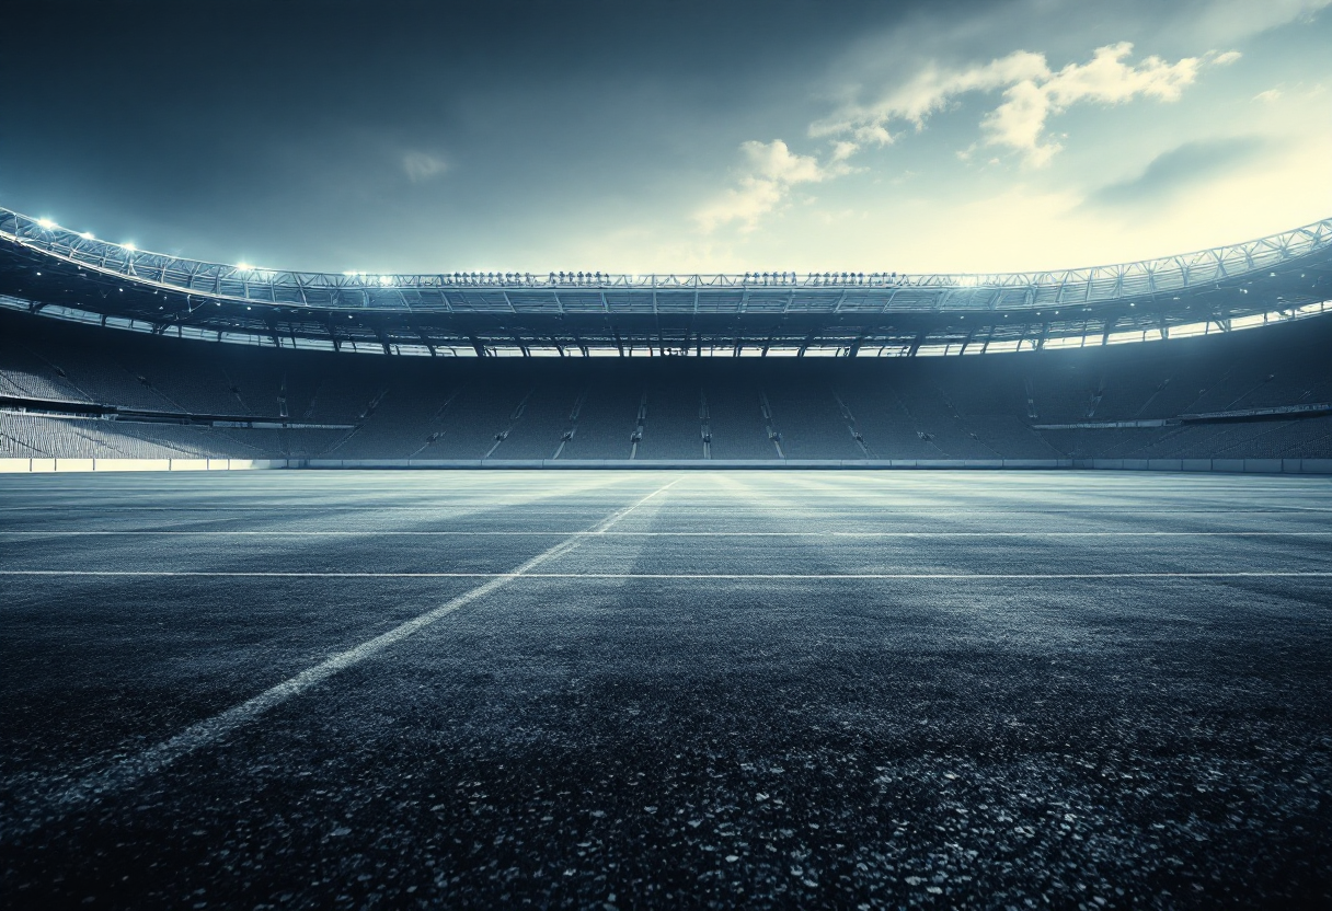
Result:
<instances>
[{"instance_id":1,"label":"long diagonal white line running across the dark field","mask_svg":"<svg viewBox=\"0 0 1332 911\"><path fill-rule=\"evenodd\" d=\"M662 491L667 490L671 485L677 483L679 478L670 481L653 493L647 494L642 499L638 499L631 506L626 506L617 510L607 518L602 519L593 529L605 530L613 526L619 519L629 515L631 511L646 503L649 499L657 497ZM405 623L400 623L388 633L382 633L373 639L368 639L358 646L341 651L332 658L328 658L314 667L310 667L300 674L290 677L281 683L269 687L268 690L260 693L258 695L246 699L245 702L228 709L226 711L213 715L212 718L204 719L185 729L180 734L163 741L155 747L144 750L137 755L127 757L103 771L93 772L72 786L61 788L55 794L41 795L33 803L31 808L25 808L23 819L15 819L19 814L17 807L12 807L7 814L9 819L4 824L3 838L13 838L24 832L40 828L48 822L59 819L68 812L77 810L81 806L96 802L103 796L120 791L125 787L133 786L139 780L153 775L170 763L176 762L181 757L198 750L200 747L209 746L222 739L232 731L249 722L254 721L269 709L278 706L288 699L305 693L306 690L318 686L328 678L344 671L349 667L360 665L365 659L384 651L385 649L406 639L408 637L437 623L442 618L454 613L460 607L484 598L485 595L503 587L509 582L521 578L530 573L533 569L541 566L542 563L565 555L582 542L582 538L570 537L561 541L555 546L545 550L527 562L522 563L514 570L507 573L492 573L486 575L473 575L469 578L489 578L489 582L478 585L470 591L448 601L432 610L428 610L418 617L414 617ZM200 575L210 575L209 573L200 573ZM330 574L337 575L337 574Z\"/></svg>"}]
</instances>

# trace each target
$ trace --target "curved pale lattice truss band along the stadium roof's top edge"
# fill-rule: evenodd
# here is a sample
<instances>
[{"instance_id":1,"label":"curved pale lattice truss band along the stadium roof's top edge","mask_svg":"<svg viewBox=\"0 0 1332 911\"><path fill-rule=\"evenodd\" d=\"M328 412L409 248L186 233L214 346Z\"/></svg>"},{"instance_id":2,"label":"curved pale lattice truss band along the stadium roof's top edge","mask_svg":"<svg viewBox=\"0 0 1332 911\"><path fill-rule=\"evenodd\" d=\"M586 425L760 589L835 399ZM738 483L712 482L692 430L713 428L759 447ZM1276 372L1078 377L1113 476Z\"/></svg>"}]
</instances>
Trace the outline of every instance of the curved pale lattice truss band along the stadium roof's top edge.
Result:
<instances>
[{"instance_id":1,"label":"curved pale lattice truss band along the stadium roof's top edge","mask_svg":"<svg viewBox=\"0 0 1332 911\"><path fill-rule=\"evenodd\" d=\"M822 301L829 294L864 294L864 302L875 309L1035 309L1169 293L1261 273L1289 260L1332 249L1332 218L1243 244L1158 260L1063 272L991 274L825 272L801 276L781 270L738 274L284 272L139 250L3 208L0 238L105 276L204 298L284 306L414 309L421 304L422 294L449 297L457 293L462 297L481 294L482 300L477 304L489 309L513 306L509 296L521 296L523 292L549 296L557 304L559 294L581 292L598 296L603 304L617 293L638 297L691 292L695 296L722 293L727 310L733 309L737 300L747 304L753 298L761 306L766 294L783 297L787 306L798 305L802 297ZM494 293L496 298L486 300L488 293Z\"/></svg>"}]
</instances>

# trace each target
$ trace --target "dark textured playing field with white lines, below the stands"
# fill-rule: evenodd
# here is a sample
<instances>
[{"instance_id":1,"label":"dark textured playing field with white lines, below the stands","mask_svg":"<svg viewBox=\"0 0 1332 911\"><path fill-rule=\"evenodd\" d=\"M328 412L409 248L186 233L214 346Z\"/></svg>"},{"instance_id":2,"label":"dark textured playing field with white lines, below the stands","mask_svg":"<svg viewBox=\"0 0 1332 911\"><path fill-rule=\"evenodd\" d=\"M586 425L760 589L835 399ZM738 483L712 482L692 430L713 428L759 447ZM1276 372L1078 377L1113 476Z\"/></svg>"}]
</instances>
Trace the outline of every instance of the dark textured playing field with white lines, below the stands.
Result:
<instances>
[{"instance_id":1,"label":"dark textured playing field with white lines, below the stands","mask_svg":"<svg viewBox=\"0 0 1332 911\"><path fill-rule=\"evenodd\" d=\"M1332 482L0 478L15 908L1332 902Z\"/></svg>"}]
</instances>

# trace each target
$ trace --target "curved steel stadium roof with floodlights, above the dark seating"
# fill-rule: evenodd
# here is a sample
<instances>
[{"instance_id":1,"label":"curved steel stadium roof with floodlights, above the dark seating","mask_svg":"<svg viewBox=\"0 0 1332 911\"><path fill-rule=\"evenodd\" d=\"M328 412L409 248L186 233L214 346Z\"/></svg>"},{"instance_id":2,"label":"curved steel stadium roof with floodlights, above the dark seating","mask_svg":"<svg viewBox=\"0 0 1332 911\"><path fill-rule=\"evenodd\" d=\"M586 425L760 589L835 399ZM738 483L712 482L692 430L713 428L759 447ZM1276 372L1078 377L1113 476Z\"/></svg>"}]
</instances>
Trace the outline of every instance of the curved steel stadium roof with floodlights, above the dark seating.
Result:
<instances>
[{"instance_id":1,"label":"curved steel stadium roof with floodlights, above the dark seating","mask_svg":"<svg viewBox=\"0 0 1332 911\"><path fill-rule=\"evenodd\" d=\"M0 305L159 334L422 354L952 354L1332 310L1332 218L1119 265L1000 274L281 272L0 208ZM1199 329L1201 328L1201 329Z\"/></svg>"}]
</instances>

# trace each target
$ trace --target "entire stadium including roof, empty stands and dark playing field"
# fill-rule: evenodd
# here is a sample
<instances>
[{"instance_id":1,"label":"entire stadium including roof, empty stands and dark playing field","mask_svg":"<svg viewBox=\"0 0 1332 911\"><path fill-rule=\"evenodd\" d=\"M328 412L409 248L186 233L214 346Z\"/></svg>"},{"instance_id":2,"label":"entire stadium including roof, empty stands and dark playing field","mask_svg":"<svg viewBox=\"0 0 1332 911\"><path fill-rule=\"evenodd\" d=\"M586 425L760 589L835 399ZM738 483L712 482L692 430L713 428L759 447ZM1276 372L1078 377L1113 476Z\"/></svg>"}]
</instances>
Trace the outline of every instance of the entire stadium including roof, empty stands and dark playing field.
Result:
<instances>
[{"instance_id":1,"label":"entire stadium including roof, empty stands and dark playing field","mask_svg":"<svg viewBox=\"0 0 1332 911\"><path fill-rule=\"evenodd\" d=\"M685 278L294 274L0 230L4 465L53 482L5 483L11 895L1327 884L1325 804L1287 779L1328 772L1300 718L1332 221L1048 274ZM1231 637L1243 658L1196 663ZM127 659L161 670L107 714L89 691ZM1277 695L1277 667L1312 689ZM253 807L217 803L237 788ZM277 859L241 884L232 852ZM163 876L108 878L148 856Z\"/></svg>"}]
</instances>

